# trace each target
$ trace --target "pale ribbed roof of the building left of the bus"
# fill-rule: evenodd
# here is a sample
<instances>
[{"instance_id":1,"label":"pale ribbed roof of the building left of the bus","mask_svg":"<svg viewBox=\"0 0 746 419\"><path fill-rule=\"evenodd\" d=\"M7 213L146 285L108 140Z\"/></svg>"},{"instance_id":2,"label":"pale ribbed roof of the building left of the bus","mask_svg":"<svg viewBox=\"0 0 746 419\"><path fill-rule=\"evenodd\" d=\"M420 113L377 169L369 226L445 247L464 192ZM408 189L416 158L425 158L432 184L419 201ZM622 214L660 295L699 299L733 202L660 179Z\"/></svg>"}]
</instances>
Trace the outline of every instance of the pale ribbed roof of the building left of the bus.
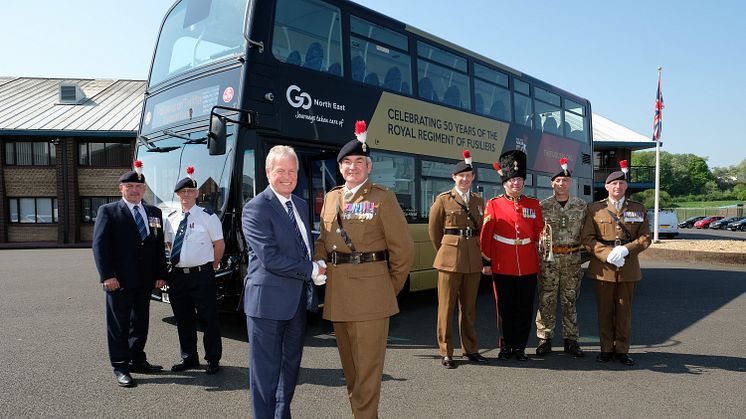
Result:
<instances>
[{"instance_id":1,"label":"pale ribbed roof of the building left of the bus","mask_svg":"<svg viewBox=\"0 0 746 419\"><path fill-rule=\"evenodd\" d=\"M79 104L60 103L60 83L77 84ZM0 76L0 134L133 135L145 81Z\"/></svg>"}]
</instances>

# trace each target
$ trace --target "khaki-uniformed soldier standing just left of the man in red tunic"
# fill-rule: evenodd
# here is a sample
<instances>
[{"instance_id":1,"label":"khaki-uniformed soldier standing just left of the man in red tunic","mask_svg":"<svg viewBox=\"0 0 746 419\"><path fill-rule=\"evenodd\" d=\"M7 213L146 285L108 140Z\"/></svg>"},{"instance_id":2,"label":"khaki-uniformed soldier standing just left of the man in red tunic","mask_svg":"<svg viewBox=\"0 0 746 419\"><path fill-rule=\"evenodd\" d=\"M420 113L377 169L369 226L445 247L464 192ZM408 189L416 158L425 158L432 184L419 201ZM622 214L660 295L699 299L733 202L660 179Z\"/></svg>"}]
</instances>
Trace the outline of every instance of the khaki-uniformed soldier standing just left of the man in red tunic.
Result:
<instances>
[{"instance_id":1,"label":"khaki-uniformed soldier standing just left of the man in red tunic","mask_svg":"<svg viewBox=\"0 0 746 419\"><path fill-rule=\"evenodd\" d=\"M464 151L464 161L456 164L452 173L455 185L435 198L430 207L430 240L438 252L433 267L438 270L438 348L441 364L452 369L453 310L459 303L459 336L461 353L476 363L487 358L479 354L474 328L479 280L482 273L482 252L479 230L482 228L484 200L471 192L474 169L471 154Z\"/></svg>"}]
</instances>

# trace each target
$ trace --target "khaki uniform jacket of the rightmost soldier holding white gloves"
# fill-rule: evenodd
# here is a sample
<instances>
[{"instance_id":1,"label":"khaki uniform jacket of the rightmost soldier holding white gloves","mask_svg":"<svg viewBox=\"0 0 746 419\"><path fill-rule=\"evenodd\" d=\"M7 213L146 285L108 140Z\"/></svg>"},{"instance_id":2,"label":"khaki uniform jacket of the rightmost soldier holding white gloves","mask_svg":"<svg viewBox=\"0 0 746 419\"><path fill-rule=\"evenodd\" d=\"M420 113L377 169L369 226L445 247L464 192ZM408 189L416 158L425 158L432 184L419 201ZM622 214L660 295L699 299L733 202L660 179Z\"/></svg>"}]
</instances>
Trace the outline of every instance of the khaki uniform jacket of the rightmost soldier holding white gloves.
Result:
<instances>
[{"instance_id":1,"label":"khaki uniform jacket of the rightmost soldier holding white gloves","mask_svg":"<svg viewBox=\"0 0 746 419\"><path fill-rule=\"evenodd\" d=\"M624 200L624 205L622 205L620 211L617 211L608 199L594 202L588 206L588 214L580 233L581 242L592 255L586 276L600 281L614 282L617 280L616 266L606 262L606 258L614 245L604 244L599 240L606 242L612 242L617 238L625 240L626 235L607 209L614 213L632 234L632 241L624 245L629 250L629 255L624 258L624 266L618 269L618 280L622 282L639 281L642 278L642 272L637 256L650 246L650 226L648 225L648 213L645 206L629 199Z\"/></svg>"}]
</instances>

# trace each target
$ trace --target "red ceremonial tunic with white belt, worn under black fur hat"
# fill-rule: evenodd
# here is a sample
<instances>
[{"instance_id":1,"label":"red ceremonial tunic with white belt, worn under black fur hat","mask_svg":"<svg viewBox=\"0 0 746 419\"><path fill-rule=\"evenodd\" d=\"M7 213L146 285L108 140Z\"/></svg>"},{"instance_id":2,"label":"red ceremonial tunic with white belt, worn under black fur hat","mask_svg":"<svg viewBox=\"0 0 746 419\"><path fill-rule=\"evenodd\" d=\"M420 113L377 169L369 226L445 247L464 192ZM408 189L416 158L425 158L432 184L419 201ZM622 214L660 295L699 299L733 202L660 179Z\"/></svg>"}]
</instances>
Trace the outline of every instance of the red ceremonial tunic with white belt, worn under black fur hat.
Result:
<instances>
[{"instance_id":1,"label":"red ceremonial tunic with white belt, worn under black fur hat","mask_svg":"<svg viewBox=\"0 0 746 419\"><path fill-rule=\"evenodd\" d=\"M513 202L505 195L490 199L479 244L492 262L492 272L513 276L539 272L537 246L543 229L539 200L521 196Z\"/></svg>"}]
</instances>

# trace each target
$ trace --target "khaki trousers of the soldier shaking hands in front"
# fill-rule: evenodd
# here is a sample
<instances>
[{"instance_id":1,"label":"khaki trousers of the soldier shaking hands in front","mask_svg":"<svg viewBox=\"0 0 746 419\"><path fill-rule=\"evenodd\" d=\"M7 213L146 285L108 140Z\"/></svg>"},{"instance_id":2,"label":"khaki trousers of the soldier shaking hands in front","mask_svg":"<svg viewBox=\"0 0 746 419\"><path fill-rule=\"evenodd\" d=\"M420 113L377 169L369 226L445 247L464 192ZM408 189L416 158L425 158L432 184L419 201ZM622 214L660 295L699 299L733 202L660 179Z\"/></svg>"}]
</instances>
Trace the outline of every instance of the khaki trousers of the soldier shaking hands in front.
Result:
<instances>
[{"instance_id":1,"label":"khaki trousers of the soldier shaking hands in front","mask_svg":"<svg viewBox=\"0 0 746 419\"><path fill-rule=\"evenodd\" d=\"M334 322L337 349L355 419L378 418L389 318Z\"/></svg>"}]
</instances>

